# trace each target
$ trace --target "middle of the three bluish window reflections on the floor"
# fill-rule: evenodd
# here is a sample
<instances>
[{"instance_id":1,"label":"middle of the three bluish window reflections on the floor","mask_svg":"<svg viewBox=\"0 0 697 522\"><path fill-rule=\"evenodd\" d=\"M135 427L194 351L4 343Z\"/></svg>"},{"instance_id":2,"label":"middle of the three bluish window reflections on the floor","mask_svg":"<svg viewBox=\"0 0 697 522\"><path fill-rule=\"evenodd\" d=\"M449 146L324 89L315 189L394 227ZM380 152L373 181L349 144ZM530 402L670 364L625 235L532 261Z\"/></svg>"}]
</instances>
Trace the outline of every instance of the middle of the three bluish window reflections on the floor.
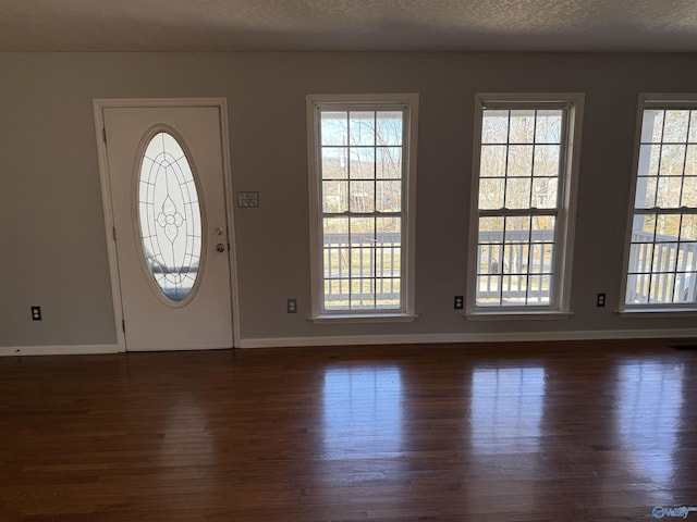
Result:
<instances>
[{"instance_id":1,"label":"middle of the three bluish window reflections on the floor","mask_svg":"<svg viewBox=\"0 0 697 522\"><path fill-rule=\"evenodd\" d=\"M472 448L479 455L538 451L545 369L475 369Z\"/></svg>"}]
</instances>

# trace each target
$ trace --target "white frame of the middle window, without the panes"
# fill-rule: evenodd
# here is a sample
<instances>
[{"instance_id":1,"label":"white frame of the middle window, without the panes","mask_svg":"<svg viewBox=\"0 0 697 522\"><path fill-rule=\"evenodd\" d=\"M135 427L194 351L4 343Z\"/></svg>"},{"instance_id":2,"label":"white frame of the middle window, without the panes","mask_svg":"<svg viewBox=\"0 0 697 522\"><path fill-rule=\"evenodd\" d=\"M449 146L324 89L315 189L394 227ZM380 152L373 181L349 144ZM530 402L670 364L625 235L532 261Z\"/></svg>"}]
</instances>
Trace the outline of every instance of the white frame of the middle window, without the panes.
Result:
<instances>
[{"instance_id":1,"label":"white frame of the middle window, without the panes","mask_svg":"<svg viewBox=\"0 0 697 522\"><path fill-rule=\"evenodd\" d=\"M585 95L583 92L479 92L475 96L475 133L473 149L472 213L467 263L467 296L465 316L486 319L566 319L571 312L571 275L574 251L574 225ZM481 130L485 108L547 109L563 108L566 125L562 130L560 185L555 217L553 274L554 287L549 304L477 306L476 274L478 271L479 175L481 159ZM501 209L503 212L504 209ZM503 214L502 214L503 215Z\"/></svg>"}]
</instances>

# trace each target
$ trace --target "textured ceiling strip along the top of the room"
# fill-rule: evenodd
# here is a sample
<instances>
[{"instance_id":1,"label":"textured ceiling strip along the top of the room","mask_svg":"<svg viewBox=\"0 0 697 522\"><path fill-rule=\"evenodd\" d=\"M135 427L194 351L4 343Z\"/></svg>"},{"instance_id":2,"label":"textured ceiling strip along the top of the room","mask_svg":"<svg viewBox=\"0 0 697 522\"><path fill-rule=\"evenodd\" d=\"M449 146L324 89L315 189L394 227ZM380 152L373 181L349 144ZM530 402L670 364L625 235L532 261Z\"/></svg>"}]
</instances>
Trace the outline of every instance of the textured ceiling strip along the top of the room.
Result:
<instances>
[{"instance_id":1,"label":"textured ceiling strip along the top of the room","mask_svg":"<svg viewBox=\"0 0 697 522\"><path fill-rule=\"evenodd\" d=\"M0 51L697 52L696 0L0 0Z\"/></svg>"}]
</instances>

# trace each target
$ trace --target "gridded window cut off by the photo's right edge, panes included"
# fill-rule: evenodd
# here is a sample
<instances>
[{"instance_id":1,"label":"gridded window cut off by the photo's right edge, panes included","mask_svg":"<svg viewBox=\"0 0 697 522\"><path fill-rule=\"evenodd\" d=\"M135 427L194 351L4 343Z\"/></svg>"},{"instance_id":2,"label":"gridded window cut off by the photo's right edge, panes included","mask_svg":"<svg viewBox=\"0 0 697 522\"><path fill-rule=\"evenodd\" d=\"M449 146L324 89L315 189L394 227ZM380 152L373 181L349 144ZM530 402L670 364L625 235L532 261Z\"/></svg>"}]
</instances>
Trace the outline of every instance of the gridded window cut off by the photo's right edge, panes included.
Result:
<instances>
[{"instance_id":1,"label":"gridded window cut off by the photo's right edge, panes included","mask_svg":"<svg viewBox=\"0 0 697 522\"><path fill-rule=\"evenodd\" d=\"M625 308L697 308L697 102L640 111Z\"/></svg>"}]
</instances>

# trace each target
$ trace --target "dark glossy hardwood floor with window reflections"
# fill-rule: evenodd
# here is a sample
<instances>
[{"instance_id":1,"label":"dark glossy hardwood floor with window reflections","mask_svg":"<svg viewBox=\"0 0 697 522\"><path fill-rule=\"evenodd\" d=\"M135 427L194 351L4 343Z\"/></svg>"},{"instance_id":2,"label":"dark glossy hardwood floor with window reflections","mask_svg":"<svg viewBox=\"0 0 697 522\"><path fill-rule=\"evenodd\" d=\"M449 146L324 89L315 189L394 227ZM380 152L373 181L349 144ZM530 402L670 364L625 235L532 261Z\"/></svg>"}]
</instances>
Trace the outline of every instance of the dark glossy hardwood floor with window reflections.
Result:
<instances>
[{"instance_id":1,"label":"dark glossy hardwood floor with window reflections","mask_svg":"<svg viewBox=\"0 0 697 522\"><path fill-rule=\"evenodd\" d=\"M697 350L673 344L0 359L0 521L677 520Z\"/></svg>"}]
</instances>

